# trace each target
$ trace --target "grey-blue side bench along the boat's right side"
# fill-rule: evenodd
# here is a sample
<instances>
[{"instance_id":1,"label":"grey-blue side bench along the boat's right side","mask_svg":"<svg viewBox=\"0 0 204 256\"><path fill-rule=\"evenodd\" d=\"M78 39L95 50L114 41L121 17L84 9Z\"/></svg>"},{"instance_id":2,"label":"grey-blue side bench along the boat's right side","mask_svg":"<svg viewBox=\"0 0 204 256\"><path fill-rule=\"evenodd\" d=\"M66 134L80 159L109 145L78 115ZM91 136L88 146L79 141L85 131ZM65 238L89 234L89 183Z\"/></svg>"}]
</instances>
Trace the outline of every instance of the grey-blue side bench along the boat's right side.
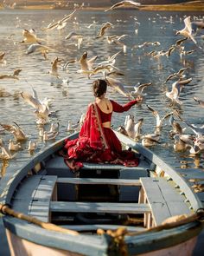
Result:
<instances>
[{"instance_id":1,"label":"grey-blue side bench along the boat's right side","mask_svg":"<svg viewBox=\"0 0 204 256\"><path fill-rule=\"evenodd\" d=\"M184 198L163 178L140 178L139 203L148 202L151 213L144 214L144 226L157 226L169 217L189 214Z\"/></svg>"}]
</instances>

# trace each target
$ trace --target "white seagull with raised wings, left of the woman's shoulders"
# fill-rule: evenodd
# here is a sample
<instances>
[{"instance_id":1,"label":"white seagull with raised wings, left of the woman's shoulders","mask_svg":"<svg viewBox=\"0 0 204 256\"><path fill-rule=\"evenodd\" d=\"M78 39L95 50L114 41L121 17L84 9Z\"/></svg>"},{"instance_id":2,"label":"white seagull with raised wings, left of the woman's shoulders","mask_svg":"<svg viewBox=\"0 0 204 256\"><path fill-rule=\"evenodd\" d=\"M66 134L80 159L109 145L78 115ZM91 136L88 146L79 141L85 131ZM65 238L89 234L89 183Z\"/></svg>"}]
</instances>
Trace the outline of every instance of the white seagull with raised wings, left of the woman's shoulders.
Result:
<instances>
[{"instance_id":1,"label":"white seagull with raised wings, left of the woman's shoulders","mask_svg":"<svg viewBox=\"0 0 204 256\"><path fill-rule=\"evenodd\" d=\"M48 116L50 115L48 100L45 102L40 101L35 89L32 89L32 90L33 90L33 95L30 95L27 92L21 92L20 95L22 96L25 102L29 103L30 106L35 108L34 113L35 115L37 115L38 121L40 122L42 121L43 123L46 123L48 121Z\"/></svg>"}]
</instances>

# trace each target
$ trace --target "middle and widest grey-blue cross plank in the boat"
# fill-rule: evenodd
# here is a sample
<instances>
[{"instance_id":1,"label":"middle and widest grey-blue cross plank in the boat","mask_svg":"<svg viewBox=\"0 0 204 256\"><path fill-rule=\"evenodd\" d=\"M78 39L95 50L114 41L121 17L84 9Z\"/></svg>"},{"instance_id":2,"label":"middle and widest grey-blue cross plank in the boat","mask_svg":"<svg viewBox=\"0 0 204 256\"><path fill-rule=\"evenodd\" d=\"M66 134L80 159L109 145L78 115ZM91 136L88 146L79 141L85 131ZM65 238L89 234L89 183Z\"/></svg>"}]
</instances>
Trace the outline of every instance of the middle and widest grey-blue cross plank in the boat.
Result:
<instances>
[{"instance_id":1,"label":"middle and widest grey-blue cross plank in the boat","mask_svg":"<svg viewBox=\"0 0 204 256\"><path fill-rule=\"evenodd\" d=\"M55 213L149 213L148 204L109 202L51 201Z\"/></svg>"}]
</instances>

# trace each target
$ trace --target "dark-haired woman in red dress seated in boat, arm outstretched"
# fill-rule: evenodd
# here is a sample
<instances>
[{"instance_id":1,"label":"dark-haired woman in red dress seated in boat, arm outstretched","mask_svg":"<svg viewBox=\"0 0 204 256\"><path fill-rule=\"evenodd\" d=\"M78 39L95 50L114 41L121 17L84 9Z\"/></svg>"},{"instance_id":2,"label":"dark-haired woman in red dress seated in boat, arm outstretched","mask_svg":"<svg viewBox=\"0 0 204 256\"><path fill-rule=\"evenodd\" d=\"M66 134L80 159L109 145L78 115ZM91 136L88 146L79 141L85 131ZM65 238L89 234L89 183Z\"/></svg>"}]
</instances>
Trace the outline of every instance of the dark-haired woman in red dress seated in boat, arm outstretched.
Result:
<instances>
[{"instance_id":1,"label":"dark-haired woman in red dress seated in boat, arm outstretched","mask_svg":"<svg viewBox=\"0 0 204 256\"><path fill-rule=\"evenodd\" d=\"M80 129L79 138L65 141L65 162L73 171L83 166L82 162L114 163L137 166L134 153L122 150L122 145L111 128L112 112L128 111L142 98L119 105L105 97L107 82L98 79L92 83L95 102L89 104Z\"/></svg>"}]
</instances>

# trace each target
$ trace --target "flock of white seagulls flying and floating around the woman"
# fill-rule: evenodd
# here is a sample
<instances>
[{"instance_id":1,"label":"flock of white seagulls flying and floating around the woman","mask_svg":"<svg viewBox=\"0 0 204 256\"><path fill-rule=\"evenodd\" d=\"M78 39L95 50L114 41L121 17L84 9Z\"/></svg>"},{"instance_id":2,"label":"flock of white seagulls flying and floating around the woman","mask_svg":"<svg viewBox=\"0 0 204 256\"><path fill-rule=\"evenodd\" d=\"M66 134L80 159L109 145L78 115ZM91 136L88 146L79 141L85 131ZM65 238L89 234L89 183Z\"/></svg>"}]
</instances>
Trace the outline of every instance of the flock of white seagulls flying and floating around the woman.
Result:
<instances>
[{"instance_id":1,"label":"flock of white seagulls flying and floating around the woman","mask_svg":"<svg viewBox=\"0 0 204 256\"><path fill-rule=\"evenodd\" d=\"M105 12L118 9L119 7L133 7L136 8L140 3L134 1L121 1L112 5L112 7ZM51 21L48 26L42 27L41 31L45 33L52 33L52 30L59 30L62 33L65 30L67 23L76 23L74 15L78 10L73 10L69 15L62 17L58 21ZM143 42L134 45L130 50L134 53L137 50L148 49L148 47L153 47L155 50L146 52L146 56L150 59L158 60L161 56L167 57L169 59L173 52L178 53L181 57L188 56L197 50L201 50L201 46L198 40L195 40L195 36L198 35L199 31L204 29L203 21L191 21L191 16L187 16L184 19L185 28L182 30L176 30L175 36L182 36L173 45L169 46L169 49L156 50L157 47L162 46L160 42ZM139 23L136 20L137 25ZM78 49L78 56L73 59L63 59L57 55L50 62L50 69L48 70L48 75L61 79L61 72L69 72L71 65L75 65L78 69L76 73L84 76L84 79L91 79L92 76L97 76L97 78L104 78L108 83L108 88L112 89L119 95L123 95L126 99L135 99L138 96L143 98L142 104L145 99L150 96L149 89L154 86L152 82L133 84L131 89L127 89L124 83L120 81L120 77L124 75L124 70L120 70L117 67L118 57L122 56L127 51L127 45L124 43L124 38L129 38L129 35L112 35L112 29L114 29L115 24L106 21L99 25L98 22L93 22L89 25L89 28L98 24L100 26L99 30L96 31L96 36L92 39L94 43L102 41L104 43L112 44L115 46L116 52L105 59L100 60L99 56L89 56L89 51L86 49L80 54L80 49L83 47L83 42L86 40L86 35L78 33L76 31L69 31L67 36L64 37L65 40L76 43ZM138 32L139 29L137 29ZM137 34L136 32L136 34ZM11 36L12 37L12 36ZM54 55L56 49L53 46L46 45L46 39L37 36L34 29L22 30L22 41L18 41L16 45L26 45L28 49L26 54L32 56L33 53L41 54L44 60L48 60L48 53L52 51ZM103 41L104 40L104 41ZM188 42L193 42L196 46L194 49L186 50L185 44ZM7 64L5 60L5 52L0 53L0 65L3 67ZM0 74L0 80L3 79L14 79L21 80L20 73L23 69L15 69L13 74ZM187 77L185 74L188 71L187 67L181 67L178 71L169 74L169 76L163 81L163 95L165 95L167 102L169 102L168 113L161 117L159 111L150 106L150 104L143 104L143 108L146 108L147 113L153 115L156 119L155 124L152 125L152 133L143 134L143 123L146 117L139 118L135 120L134 115L127 115L124 120L124 125L121 125L118 130L131 137L131 139L136 141L141 141L144 147L152 147L158 144L162 144L163 128L169 126L169 138L173 141L173 148L176 152L189 150L190 154L200 154L204 150L204 124L200 127L189 123L184 120L181 115L179 115L175 109L181 108L182 106L182 89L193 80L193 77ZM171 82L171 85L169 84ZM31 93L28 90L22 90L19 94L20 100L24 102L24 105L28 107L29 111L32 111L32 115L35 116L35 124L39 130L39 138L41 141L52 141L54 140L60 132L60 123L52 121L52 111L51 102L52 99L44 98L38 96L37 91L30 87ZM162 94L162 93L161 93ZM194 108L204 108L204 98L198 98L194 96ZM169 110L170 109L170 110ZM67 132L73 133L80 131L83 124L85 114L80 116L77 123L72 121L67 122ZM169 123L169 124L167 124ZM48 126L50 127L48 128ZM183 128L184 126L184 128ZM187 133L188 131L188 133ZM6 142L3 142L3 135L10 134L13 135L12 138ZM29 152L34 152L38 147L38 142L34 141L31 136L26 135L23 128L13 121L12 124L0 122L0 159L10 160L16 157L16 152L23 149L23 141L27 142L27 150Z\"/></svg>"}]
</instances>

